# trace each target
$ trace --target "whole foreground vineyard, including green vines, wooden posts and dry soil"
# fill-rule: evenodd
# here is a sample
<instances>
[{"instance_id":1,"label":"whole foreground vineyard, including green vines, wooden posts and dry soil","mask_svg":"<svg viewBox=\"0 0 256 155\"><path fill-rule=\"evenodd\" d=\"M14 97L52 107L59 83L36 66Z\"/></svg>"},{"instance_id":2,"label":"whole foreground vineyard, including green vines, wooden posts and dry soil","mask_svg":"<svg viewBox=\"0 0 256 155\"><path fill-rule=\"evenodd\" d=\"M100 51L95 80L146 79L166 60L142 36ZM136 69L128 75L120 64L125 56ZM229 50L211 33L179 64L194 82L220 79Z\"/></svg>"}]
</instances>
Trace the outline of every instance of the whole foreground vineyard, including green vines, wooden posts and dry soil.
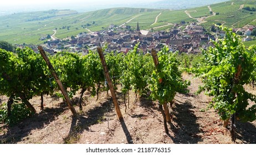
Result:
<instances>
[{"instance_id":1,"label":"whole foreground vineyard, including green vines, wooden posts and dry soil","mask_svg":"<svg viewBox=\"0 0 256 155\"><path fill-rule=\"evenodd\" d=\"M255 47L219 28L201 55L0 49L0 143L256 143Z\"/></svg>"}]
</instances>

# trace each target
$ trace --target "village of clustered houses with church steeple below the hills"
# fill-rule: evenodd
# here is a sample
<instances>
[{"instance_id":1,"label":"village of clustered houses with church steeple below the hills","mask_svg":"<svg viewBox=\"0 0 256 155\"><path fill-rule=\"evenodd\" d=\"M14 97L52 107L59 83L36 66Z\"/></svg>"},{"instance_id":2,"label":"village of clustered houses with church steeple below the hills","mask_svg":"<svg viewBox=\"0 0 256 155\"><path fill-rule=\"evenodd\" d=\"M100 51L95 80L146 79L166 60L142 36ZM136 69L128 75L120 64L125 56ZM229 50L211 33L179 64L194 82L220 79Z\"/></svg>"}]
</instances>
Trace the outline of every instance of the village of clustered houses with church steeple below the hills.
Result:
<instances>
[{"instance_id":1,"label":"village of clustered houses with church steeple below the hills","mask_svg":"<svg viewBox=\"0 0 256 155\"><path fill-rule=\"evenodd\" d=\"M208 49L209 46L213 46L211 40L222 38L225 35L224 32L218 30L215 33L209 33L202 25L197 25L197 23L186 24L186 22L174 24L170 28L170 32L163 30L157 32L141 30L139 22L137 22L135 30L128 29L130 28L129 25L122 25L121 27L111 24L108 29L99 32L83 32L76 35L76 37L71 36L65 39L55 39L52 37L52 40L46 42L44 48L50 54L66 50L85 55L89 50L94 50L99 45L106 45L106 51L126 54L136 44L139 44L139 49L144 54L149 53L152 48L158 51L162 46L168 46L170 51L173 52L197 54L201 53L202 49ZM238 32L238 30L243 32L243 41L248 41L252 40L249 36L254 28L234 29L233 32ZM216 27L213 26L213 29L216 29ZM38 50L36 46L32 46L32 48L34 51Z\"/></svg>"}]
</instances>

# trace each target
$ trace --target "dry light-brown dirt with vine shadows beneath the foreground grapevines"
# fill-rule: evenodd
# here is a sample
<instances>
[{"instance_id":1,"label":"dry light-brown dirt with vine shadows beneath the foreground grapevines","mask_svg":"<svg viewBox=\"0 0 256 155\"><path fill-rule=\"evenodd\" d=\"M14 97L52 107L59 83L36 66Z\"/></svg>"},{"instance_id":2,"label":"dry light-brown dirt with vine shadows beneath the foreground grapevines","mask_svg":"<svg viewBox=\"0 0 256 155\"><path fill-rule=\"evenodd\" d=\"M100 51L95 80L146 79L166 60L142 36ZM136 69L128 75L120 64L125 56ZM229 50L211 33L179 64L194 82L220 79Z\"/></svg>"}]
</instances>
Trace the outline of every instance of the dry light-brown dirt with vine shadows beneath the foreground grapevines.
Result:
<instances>
[{"instance_id":1,"label":"dry light-brown dirt with vine shadows beneath the foreground grapevines","mask_svg":"<svg viewBox=\"0 0 256 155\"><path fill-rule=\"evenodd\" d=\"M188 74L183 78L191 80L190 93L176 94L170 107L172 124L168 126L168 135L164 131L157 102L142 97L135 100L135 94L130 91L130 106L125 113L124 97L117 90L124 116L122 123L117 120L111 97L106 91L100 92L98 101L85 92L83 111L75 106L78 117L72 117L62 99L44 96L45 108L42 111L40 97L34 97L30 102L37 113L12 127L1 124L0 143L233 143L217 112L207 110L211 98L204 94L194 95L201 81ZM247 89L255 94L249 86ZM2 102L7 102L7 97L0 97ZM79 94L73 98L73 104L77 104L78 97ZM256 143L256 121L237 122L235 143Z\"/></svg>"}]
</instances>

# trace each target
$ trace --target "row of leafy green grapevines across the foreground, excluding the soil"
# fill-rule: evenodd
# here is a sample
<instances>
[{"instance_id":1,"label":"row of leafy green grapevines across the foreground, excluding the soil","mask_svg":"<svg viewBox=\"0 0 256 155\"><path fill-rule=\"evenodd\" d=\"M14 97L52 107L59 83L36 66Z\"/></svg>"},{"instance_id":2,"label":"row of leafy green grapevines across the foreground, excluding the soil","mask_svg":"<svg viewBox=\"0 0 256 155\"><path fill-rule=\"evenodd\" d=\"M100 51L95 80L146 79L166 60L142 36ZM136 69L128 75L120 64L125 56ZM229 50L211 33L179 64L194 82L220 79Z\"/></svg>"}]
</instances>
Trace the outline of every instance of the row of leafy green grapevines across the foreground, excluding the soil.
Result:
<instances>
[{"instance_id":1,"label":"row of leafy green grapevines across the foreground, excluding the soil","mask_svg":"<svg viewBox=\"0 0 256 155\"><path fill-rule=\"evenodd\" d=\"M122 53L105 53L105 60L114 88L121 85L124 96L133 90L140 96L150 94L152 100L160 104L164 122L171 123L168 103L171 103L176 92L186 93L189 81L183 81L183 69L193 71L201 77L204 91L213 96L211 107L215 108L226 122L231 120L231 132L234 135L235 120L256 120L256 105L249 106L248 100L256 101L256 96L244 90L243 85L255 79L255 46L245 49L240 38L230 29L220 27L226 37L214 43L214 47L203 51L201 56L194 56L191 62L187 55L171 53L163 47L156 54L142 54L137 46L126 55ZM79 107L82 109L83 94L88 89L92 96L99 95L99 90L108 90L103 66L98 53L90 51L87 55L60 52L48 55L60 81L69 88L72 97L81 90ZM40 54L32 49L17 49L12 53L0 49L0 94L9 97L6 108L1 107L1 121L17 122L15 111L28 107L24 115L35 112L29 103L33 96L53 94L58 90L51 71ZM21 100L22 104L17 104ZM21 103L18 102L18 103ZM13 104L14 103L14 104ZM22 107L21 107L22 105ZM24 106L25 105L25 106ZM19 106L19 108L17 108ZM168 132L165 125L166 132ZM235 139L235 137L232 137Z\"/></svg>"}]
</instances>

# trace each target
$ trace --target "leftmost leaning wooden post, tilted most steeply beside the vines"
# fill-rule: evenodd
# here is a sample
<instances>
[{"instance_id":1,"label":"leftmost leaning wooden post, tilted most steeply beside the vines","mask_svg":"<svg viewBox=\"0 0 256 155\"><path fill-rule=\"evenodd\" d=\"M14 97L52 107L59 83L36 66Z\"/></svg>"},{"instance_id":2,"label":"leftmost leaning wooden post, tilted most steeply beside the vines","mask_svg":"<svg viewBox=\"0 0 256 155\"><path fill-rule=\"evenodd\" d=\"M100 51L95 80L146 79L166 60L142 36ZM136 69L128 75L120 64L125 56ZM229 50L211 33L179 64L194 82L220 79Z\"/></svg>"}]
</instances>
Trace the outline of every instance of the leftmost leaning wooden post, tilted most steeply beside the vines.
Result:
<instances>
[{"instance_id":1,"label":"leftmost leaning wooden post, tilted most steeply beside the vines","mask_svg":"<svg viewBox=\"0 0 256 155\"><path fill-rule=\"evenodd\" d=\"M69 96L68 96L68 94L66 93L66 90L65 90L64 86L62 85L62 82L59 80L59 77L58 77L56 71L54 70L53 65L50 63L49 58L48 58L47 55L45 54L45 51L44 51L43 47L42 47L42 46L38 46L38 49L39 49L40 54L42 55L44 61L46 62L47 66L49 67L50 72L52 73L54 79L56 80L57 84L59 85L60 91L62 91L62 94L63 94L63 96L65 97L65 100L66 100L66 102L67 102L67 104L68 104L68 106L69 106L71 112L73 113L74 116L76 116L77 114L76 114L75 108L74 108L73 105L71 104L71 101L70 101L70 99L69 99Z\"/></svg>"}]
</instances>

